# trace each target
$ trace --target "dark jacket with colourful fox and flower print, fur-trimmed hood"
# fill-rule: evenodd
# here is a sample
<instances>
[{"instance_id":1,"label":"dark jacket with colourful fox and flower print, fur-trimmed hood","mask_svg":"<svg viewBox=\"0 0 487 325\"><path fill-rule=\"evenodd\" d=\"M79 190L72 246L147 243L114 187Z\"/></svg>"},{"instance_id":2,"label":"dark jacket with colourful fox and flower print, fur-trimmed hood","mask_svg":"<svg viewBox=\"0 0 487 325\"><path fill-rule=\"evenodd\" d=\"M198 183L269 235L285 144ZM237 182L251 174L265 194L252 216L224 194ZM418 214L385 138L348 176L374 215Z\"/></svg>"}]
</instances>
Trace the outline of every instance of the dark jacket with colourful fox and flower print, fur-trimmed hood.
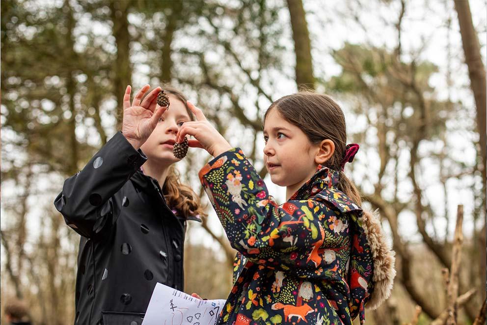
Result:
<instances>
[{"instance_id":1,"label":"dark jacket with colourful fox and flower print, fur-trimmed hood","mask_svg":"<svg viewBox=\"0 0 487 325\"><path fill-rule=\"evenodd\" d=\"M388 297L394 256L379 222L316 174L282 206L240 148L205 165L200 181L239 252L219 324L352 324Z\"/></svg>"}]
</instances>

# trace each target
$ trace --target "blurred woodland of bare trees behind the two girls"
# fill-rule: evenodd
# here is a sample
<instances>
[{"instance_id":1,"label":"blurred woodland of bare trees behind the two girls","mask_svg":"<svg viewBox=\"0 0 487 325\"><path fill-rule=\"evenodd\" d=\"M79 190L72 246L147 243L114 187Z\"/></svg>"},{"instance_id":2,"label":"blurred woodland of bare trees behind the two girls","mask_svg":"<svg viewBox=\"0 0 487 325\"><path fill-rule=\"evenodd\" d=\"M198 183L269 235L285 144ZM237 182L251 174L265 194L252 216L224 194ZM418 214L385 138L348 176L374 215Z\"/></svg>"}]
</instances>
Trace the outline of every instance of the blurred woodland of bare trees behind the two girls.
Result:
<instances>
[{"instance_id":1,"label":"blurred woodland of bare trees behind the two girls","mask_svg":"<svg viewBox=\"0 0 487 325\"><path fill-rule=\"evenodd\" d=\"M270 103L298 87L336 98L361 146L346 173L397 254L367 323L485 324L486 1L0 5L1 301L27 301L33 324L73 323L79 235L53 201L117 131L125 87L146 83L182 89L262 177ZM204 202L208 159L177 164ZM226 298L235 251L215 219L189 227L185 291Z\"/></svg>"}]
</instances>

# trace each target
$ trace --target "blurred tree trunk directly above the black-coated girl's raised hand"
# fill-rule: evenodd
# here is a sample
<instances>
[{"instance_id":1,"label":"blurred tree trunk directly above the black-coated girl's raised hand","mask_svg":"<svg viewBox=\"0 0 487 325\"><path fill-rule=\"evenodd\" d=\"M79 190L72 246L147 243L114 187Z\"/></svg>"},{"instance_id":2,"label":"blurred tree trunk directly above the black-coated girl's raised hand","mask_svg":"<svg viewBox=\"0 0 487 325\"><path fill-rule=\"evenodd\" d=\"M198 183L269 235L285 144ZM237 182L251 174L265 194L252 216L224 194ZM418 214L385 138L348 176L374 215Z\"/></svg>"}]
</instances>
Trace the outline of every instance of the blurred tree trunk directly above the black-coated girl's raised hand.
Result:
<instances>
[{"instance_id":1,"label":"blurred tree trunk directly above the black-coated girl's raised hand","mask_svg":"<svg viewBox=\"0 0 487 325\"><path fill-rule=\"evenodd\" d=\"M130 0L111 0L110 11L113 23L113 36L117 44L117 58L113 67L113 95L117 101L117 128L120 129L123 118L123 94L127 85L132 84L132 67L130 65L130 34L127 20Z\"/></svg>"}]
</instances>

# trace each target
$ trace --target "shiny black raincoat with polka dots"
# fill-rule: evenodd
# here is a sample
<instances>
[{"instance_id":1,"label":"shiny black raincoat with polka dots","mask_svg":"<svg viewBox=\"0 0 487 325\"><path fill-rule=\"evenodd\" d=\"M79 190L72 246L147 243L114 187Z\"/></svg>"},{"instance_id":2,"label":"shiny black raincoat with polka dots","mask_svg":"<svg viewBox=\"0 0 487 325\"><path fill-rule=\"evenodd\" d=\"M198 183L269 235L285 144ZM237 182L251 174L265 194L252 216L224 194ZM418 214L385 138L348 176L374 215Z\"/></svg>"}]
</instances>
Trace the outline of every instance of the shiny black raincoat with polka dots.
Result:
<instances>
[{"instance_id":1,"label":"shiny black raincoat with polka dots","mask_svg":"<svg viewBox=\"0 0 487 325\"><path fill-rule=\"evenodd\" d=\"M187 220L168 207L118 132L65 180L54 205L81 235L75 324L140 325L157 282L183 290Z\"/></svg>"}]
</instances>

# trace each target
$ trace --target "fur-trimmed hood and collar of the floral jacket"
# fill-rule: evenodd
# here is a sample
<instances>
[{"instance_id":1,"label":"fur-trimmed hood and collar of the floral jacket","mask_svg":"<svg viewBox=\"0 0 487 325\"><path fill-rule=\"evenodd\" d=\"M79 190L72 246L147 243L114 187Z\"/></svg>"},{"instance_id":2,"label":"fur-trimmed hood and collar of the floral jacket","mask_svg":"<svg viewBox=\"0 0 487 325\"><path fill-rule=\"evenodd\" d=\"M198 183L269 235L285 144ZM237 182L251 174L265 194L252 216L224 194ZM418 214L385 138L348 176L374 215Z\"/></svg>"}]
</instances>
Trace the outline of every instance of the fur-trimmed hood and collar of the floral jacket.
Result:
<instances>
[{"instance_id":1,"label":"fur-trimmed hood and collar of the floral jacket","mask_svg":"<svg viewBox=\"0 0 487 325\"><path fill-rule=\"evenodd\" d=\"M353 290L353 282L360 276L360 279L368 283L368 291L363 296L359 295L358 301L352 299L351 309L361 309L362 303L368 309L376 309L391 294L396 276L395 252L382 232L378 210L373 213L362 210L338 190L338 182L337 171L319 165L315 175L298 189L291 200L306 200L314 196L318 200L330 203L342 213L356 212L352 213L350 218L353 243L349 285Z\"/></svg>"}]
</instances>

